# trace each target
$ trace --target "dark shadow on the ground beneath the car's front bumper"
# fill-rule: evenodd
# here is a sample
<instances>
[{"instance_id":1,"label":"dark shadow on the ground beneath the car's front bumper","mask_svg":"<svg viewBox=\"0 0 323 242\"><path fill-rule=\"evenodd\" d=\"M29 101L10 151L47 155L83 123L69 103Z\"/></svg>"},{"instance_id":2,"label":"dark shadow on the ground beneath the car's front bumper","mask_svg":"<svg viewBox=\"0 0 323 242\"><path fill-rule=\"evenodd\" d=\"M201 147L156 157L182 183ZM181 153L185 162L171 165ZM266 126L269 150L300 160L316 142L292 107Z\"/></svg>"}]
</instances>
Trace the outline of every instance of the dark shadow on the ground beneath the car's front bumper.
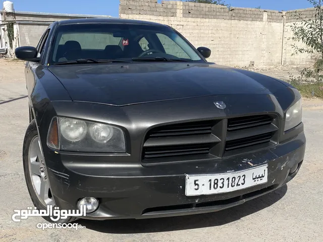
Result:
<instances>
[{"instance_id":1,"label":"dark shadow on the ground beneath the car's front bumper","mask_svg":"<svg viewBox=\"0 0 323 242\"><path fill-rule=\"evenodd\" d=\"M78 223L82 226L86 226L87 229L92 229L103 233L120 234L165 232L221 226L270 207L283 198L286 192L287 185L284 185L271 193L248 201L242 205L213 213L139 220L119 219L95 221L81 219L78 221Z\"/></svg>"}]
</instances>

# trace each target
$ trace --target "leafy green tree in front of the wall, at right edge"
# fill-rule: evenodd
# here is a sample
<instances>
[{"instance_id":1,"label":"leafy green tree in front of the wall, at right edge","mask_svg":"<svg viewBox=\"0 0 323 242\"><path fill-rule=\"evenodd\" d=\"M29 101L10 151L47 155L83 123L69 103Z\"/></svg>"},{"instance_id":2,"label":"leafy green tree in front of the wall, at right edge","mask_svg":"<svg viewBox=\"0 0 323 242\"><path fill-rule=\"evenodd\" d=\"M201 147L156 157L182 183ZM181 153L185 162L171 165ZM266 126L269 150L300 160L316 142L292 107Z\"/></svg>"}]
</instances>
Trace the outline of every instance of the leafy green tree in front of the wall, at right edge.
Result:
<instances>
[{"instance_id":1,"label":"leafy green tree in front of the wall, at right edge","mask_svg":"<svg viewBox=\"0 0 323 242\"><path fill-rule=\"evenodd\" d=\"M301 20L294 23L292 31L295 42L302 42L305 47L299 47L293 44L293 54L308 53L314 56L314 64L308 68L299 70L300 76L295 78L291 76L291 81L300 83L304 81L321 83L323 81L323 0L307 0L314 6L315 15L312 19L304 17L296 12L296 19Z\"/></svg>"}]
</instances>

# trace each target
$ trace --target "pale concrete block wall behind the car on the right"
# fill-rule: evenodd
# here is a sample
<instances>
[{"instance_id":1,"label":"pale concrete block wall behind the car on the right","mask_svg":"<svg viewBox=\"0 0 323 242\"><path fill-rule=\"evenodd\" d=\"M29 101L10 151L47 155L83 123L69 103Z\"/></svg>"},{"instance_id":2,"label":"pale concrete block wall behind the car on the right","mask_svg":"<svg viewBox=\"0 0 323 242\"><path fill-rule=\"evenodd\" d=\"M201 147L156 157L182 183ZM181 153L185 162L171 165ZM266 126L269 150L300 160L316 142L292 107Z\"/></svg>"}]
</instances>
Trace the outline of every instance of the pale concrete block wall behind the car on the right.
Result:
<instances>
[{"instance_id":1,"label":"pale concrete block wall behind the car on the right","mask_svg":"<svg viewBox=\"0 0 323 242\"><path fill-rule=\"evenodd\" d=\"M300 11L312 17L312 9ZM292 55L293 12L229 9L180 1L158 4L157 0L120 0L119 15L172 26L195 47L209 47L209 62L228 66L248 66L250 62L256 66L306 65L310 61L308 54Z\"/></svg>"}]
</instances>

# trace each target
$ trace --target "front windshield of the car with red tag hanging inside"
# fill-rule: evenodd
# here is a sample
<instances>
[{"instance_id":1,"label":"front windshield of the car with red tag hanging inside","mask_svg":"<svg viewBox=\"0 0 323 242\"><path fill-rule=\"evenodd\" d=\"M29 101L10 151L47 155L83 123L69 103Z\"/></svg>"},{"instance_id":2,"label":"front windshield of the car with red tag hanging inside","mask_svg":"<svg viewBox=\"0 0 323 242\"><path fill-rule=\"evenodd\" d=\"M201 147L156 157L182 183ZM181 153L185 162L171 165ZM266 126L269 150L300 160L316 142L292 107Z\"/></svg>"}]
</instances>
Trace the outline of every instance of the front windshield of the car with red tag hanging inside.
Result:
<instances>
[{"instance_id":1,"label":"front windshield of the car with red tag hanging inside","mask_svg":"<svg viewBox=\"0 0 323 242\"><path fill-rule=\"evenodd\" d=\"M67 24L57 28L49 63L204 62L197 51L167 26L144 24Z\"/></svg>"}]
</instances>

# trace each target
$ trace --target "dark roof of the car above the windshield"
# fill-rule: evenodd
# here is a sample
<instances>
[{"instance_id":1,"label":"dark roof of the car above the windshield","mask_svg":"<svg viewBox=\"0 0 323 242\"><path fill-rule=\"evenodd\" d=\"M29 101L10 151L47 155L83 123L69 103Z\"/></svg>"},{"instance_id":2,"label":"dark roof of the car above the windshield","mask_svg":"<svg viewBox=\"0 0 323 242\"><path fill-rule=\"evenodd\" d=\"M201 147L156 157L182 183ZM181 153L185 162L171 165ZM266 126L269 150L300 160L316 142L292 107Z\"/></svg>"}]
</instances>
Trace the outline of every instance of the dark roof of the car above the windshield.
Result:
<instances>
[{"instance_id":1,"label":"dark roof of the car above the windshield","mask_svg":"<svg viewBox=\"0 0 323 242\"><path fill-rule=\"evenodd\" d=\"M111 24L143 24L143 25L155 25L155 26L167 26L164 24L140 21L133 19L119 19L119 18L93 18L93 19L69 19L58 21L59 25L65 24L80 24L80 23L111 23Z\"/></svg>"}]
</instances>

